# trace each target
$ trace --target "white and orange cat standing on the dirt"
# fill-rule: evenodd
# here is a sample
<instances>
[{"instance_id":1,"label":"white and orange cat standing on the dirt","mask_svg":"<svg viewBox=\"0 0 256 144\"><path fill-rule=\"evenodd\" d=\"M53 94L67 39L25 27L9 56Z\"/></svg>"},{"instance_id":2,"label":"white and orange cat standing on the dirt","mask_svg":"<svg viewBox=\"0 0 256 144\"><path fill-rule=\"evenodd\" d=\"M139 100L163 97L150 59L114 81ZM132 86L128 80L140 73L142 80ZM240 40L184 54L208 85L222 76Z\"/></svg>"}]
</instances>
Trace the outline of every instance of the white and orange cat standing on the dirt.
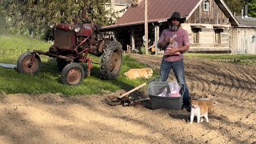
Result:
<instances>
[{"instance_id":1,"label":"white and orange cat standing on the dirt","mask_svg":"<svg viewBox=\"0 0 256 144\"><path fill-rule=\"evenodd\" d=\"M197 117L197 122L202 122L203 119L200 121L200 118L206 118L206 122L208 120L208 106L204 104L198 104L198 100L191 99L191 114L190 114L190 123L193 123L194 116Z\"/></svg>"}]
</instances>

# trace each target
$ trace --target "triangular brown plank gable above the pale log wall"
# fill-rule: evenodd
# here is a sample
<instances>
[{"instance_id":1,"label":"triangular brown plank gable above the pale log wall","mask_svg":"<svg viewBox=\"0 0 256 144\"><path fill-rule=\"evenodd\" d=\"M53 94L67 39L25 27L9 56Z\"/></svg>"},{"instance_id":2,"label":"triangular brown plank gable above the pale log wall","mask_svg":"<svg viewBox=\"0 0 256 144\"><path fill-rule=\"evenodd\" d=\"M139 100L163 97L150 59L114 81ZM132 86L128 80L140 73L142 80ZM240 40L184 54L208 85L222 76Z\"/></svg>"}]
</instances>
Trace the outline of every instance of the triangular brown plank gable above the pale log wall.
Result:
<instances>
[{"instance_id":1,"label":"triangular brown plank gable above the pale log wall","mask_svg":"<svg viewBox=\"0 0 256 144\"><path fill-rule=\"evenodd\" d=\"M203 11L204 2L198 6L194 13L187 19L186 23L208 23L229 25L229 18L218 7L214 0L210 0L210 10Z\"/></svg>"}]
</instances>

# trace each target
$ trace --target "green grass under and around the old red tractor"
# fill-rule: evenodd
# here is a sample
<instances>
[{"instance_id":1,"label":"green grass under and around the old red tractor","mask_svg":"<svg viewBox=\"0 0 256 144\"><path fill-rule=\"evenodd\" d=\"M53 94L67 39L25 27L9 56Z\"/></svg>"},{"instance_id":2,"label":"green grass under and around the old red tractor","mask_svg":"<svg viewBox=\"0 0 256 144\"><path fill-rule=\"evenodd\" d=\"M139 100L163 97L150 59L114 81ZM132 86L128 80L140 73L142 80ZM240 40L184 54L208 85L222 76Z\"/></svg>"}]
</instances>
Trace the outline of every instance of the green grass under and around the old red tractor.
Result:
<instances>
[{"instance_id":1,"label":"green grass under and around the old red tractor","mask_svg":"<svg viewBox=\"0 0 256 144\"><path fill-rule=\"evenodd\" d=\"M50 44L38 39L15 34L0 34L0 63L16 64L18 57L29 50L47 51ZM100 66L94 64L90 77L83 80L79 86L65 86L60 79L60 72L54 58L40 55L42 67L36 75L19 74L16 70L0 67L0 93L3 94L46 94L62 93L71 95L103 94L106 91L131 90L135 86L148 80L138 79L131 81L124 77L124 73L131 68L143 68L130 56L123 57L122 70L115 80L102 81L100 79ZM93 62L100 62L101 57L90 55ZM85 66L85 65L84 65ZM158 71L154 72L158 75Z\"/></svg>"}]
</instances>

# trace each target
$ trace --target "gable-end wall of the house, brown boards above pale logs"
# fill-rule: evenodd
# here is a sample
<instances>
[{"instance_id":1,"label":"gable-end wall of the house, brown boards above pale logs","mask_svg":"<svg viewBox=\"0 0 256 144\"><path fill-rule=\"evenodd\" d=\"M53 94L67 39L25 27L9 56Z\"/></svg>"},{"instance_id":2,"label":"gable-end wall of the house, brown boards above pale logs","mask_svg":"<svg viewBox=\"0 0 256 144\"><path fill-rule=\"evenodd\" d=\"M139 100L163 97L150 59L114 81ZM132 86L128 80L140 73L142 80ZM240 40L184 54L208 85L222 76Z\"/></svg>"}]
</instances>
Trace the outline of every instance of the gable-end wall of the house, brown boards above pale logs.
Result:
<instances>
[{"instance_id":1,"label":"gable-end wall of the house, brown boards above pale logs","mask_svg":"<svg viewBox=\"0 0 256 144\"><path fill-rule=\"evenodd\" d=\"M204 1L198 6L182 27L190 34L190 51L223 51L230 52L230 22L214 0L209 0L209 11L204 10ZM194 26L197 27L194 27ZM218 26L218 28L214 27ZM198 35L194 30L198 30ZM194 42L194 37L198 42ZM219 37L219 38L217 38Z\"/></svg>"}]
</instances>

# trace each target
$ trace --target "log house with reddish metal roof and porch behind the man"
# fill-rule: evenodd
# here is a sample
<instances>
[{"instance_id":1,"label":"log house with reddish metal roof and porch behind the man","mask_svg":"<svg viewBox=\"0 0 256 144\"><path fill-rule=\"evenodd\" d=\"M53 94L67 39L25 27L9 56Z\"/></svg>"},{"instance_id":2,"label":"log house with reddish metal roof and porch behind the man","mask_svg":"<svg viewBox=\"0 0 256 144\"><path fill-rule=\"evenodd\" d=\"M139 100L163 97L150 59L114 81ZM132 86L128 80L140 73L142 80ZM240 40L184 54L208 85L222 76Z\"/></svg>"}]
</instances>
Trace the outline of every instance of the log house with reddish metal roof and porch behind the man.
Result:
<instances>
[{"instance_id":1,"label":"log house with reddish metal roof and porch behind the man","mask_svg":"<svg viewBox=\"0 0 256 144\"><path fill-rule=\"evenodd\" d=\"M239 22L222 0L148 0L151 45L158 41L162 30L168 28L167 19L175 11L186 18L182 27L190 34L189 52L230 53L230 28ZM130 6L118 22L102 30L112 31L124 50L127 45L132 50L139 49L143 45L144 0Z\"/></svg>"}]
</instances>

